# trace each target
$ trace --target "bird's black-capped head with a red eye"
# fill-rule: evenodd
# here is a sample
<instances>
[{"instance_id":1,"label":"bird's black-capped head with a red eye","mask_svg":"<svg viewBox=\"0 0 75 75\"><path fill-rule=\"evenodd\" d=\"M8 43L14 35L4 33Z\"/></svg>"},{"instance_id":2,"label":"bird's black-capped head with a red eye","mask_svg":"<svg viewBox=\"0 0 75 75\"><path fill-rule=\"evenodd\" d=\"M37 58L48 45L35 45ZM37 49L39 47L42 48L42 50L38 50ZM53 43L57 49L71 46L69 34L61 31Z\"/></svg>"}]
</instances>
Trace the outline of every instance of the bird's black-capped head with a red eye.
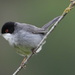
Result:
<instances>
[{"instance_id":1,"label":"bird's black-capped head with a red eye","mask_svg":"<svg viewBox=\"0 0 75 75\"><path fill-rule=\"evenodd\" d=\"M5 33L12 34L14 32L14 29L15 29L15 22L6 22L1 29L1 33L2 34L5 34Z\"/></svg>"}]
</instances>

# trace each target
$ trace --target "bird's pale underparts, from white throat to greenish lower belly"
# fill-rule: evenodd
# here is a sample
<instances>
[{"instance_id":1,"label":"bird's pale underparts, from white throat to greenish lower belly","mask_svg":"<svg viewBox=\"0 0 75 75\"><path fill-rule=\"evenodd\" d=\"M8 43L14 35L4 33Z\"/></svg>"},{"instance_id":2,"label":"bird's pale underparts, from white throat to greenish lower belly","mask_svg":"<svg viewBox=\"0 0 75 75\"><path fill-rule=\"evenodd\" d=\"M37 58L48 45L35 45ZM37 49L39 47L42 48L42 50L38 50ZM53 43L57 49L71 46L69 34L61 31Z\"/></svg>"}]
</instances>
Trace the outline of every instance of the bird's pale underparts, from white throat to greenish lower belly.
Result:
<instances>
[{"instance_id":1,"label":"bird's pale underparts, from white throat to greenish lower belly","mask_svg":"<svg viewBox=\"0 0 75 75\"><path fill-rule=\"evenodd\" d=\"M43 35L42 34L5 34L3 37L9 42L11 46L16 47L17 53L22 56L29 55L33 48L36 48L41 42Z\"/></svg>"}]
</instances>

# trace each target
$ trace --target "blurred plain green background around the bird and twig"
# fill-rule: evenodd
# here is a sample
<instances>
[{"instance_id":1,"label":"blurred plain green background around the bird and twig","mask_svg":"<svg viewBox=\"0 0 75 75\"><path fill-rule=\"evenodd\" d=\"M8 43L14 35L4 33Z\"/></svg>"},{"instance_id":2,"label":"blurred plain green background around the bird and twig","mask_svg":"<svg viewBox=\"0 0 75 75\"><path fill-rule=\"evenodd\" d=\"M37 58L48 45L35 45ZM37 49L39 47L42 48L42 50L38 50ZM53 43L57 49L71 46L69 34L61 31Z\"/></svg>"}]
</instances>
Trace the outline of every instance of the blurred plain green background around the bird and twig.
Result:
<instances>
[{"instance_id":1,"label":"blurred plain green background around the bird and twig","mask_svg":"<svg viewBox=\"0 0 75 75\"><path fill-rule=\"evenodd\" d=\"M61 15L69 0L2 0L0 29L7 21L43 26ZM23 57L0 37L0 75L12 75ZM73 9L47 38L47 43L27 63L18 75L75 75L75 9Z\"/></svg>"}]
</instances>

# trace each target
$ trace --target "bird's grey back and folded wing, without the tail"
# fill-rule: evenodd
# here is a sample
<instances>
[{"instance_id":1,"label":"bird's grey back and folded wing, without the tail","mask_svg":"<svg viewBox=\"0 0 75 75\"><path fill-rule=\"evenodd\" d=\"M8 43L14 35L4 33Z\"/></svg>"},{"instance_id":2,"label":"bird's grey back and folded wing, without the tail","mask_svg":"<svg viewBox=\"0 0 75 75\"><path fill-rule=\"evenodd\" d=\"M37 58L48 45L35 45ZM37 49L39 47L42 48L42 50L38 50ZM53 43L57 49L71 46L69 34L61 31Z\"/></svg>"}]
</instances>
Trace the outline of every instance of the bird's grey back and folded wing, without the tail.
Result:
<instances>
[{"instance_id":1,"label":"bird's grey back and folded wing, without the tail","mask_svg":"<svg viewBox=\"0 0 75 75\"><path fill-rule=\"evenodd\" d=\"M47 30L43 29L43 28L38 28L34 25L31 25L31 24L26 24L26 23L19 23L19 22L16 22L16 25L17 25L17 28L20 30L20 29L23 29L27 32L31 32L31 33L34 33L34 34L45 34L47 32Z\"/></svg>"}]
</instances>

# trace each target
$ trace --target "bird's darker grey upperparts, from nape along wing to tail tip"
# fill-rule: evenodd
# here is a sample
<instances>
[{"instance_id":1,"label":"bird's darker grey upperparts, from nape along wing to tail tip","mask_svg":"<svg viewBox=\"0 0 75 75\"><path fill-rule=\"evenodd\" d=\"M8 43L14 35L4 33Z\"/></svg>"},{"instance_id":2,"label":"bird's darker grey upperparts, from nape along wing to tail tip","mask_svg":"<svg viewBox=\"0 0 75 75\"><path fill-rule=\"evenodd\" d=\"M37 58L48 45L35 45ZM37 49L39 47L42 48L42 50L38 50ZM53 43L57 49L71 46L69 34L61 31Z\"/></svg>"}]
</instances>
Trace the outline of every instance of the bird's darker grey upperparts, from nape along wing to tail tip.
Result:
<instances>
[{"instance_id":1,"label":"bird's darker grey upperparts, from nape along wing to tail tip","mask_svg":"<svg viewBox=\"0 0 75 75\"><path fill-rule=\"evenodd\" d=\"M34 25L31 25L31 24L26 24L26 23L19 23L19 22L16 22L16 25L17 25L17 28L20 30L20 29L23 29L25 31L28 31L28 32L32 32L32 33L35 33L35 34L45 34L47 33L49 27L55 23L58 19L60 18L60 16L54 18L53 20L51 20L50 22L48 22L47 24L45 24L42 28L38 28Z\"/></svg>"}]
</instances>

